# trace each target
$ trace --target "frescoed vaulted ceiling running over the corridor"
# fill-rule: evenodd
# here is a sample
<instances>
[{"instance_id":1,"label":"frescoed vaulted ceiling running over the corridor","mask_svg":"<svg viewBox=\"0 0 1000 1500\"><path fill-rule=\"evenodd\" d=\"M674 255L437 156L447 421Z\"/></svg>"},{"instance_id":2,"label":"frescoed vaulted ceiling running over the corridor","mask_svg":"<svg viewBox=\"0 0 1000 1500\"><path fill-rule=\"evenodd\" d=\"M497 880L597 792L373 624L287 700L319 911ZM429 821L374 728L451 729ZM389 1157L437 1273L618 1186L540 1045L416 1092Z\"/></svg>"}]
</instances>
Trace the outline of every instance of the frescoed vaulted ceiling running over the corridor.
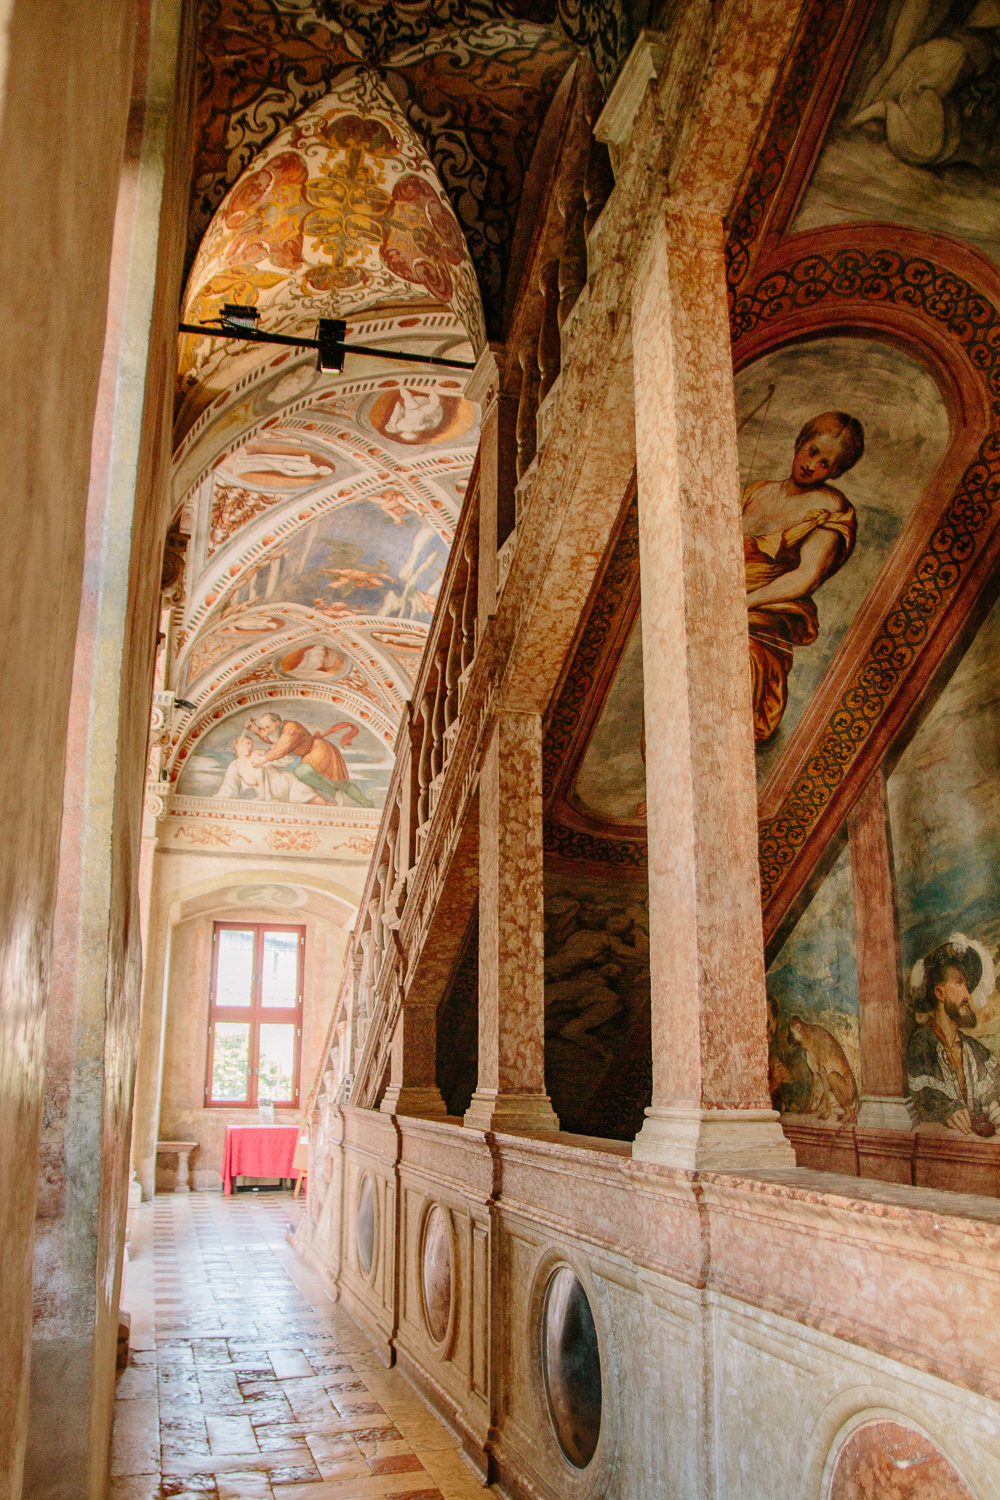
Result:
<instances>
[{"instance_id":1,"label":"frescoed vaulted ceiling running over the corridor","mask_svg":"<svg viewBox=\"0 0 1000 1500\"><path fill-rule=\"evenodd\" d=\"M201 0L183 321L240 303L312 338L339 316L348 342L474 362L501 330L561 84L589 54L607 86L642 9ZM208 336L178 356L187 554L166 681L192 706L166 774L231 796L235 736L264 705L318 734L336 720L375 796L478 444L466 375L370 356L321 374L310 351Z\"/></svg>"}]
</instances>

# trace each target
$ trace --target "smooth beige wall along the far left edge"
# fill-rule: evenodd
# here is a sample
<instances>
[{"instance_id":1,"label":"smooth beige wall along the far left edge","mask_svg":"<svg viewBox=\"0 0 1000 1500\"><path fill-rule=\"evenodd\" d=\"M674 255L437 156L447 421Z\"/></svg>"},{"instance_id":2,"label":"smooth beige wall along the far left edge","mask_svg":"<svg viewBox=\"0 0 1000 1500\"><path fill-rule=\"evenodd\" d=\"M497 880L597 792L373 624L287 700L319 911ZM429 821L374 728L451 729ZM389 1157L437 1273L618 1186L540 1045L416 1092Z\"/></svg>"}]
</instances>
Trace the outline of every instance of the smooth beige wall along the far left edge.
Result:
<instances>
[{"instance_id":1,"label":"smooth beige wall along the far left edge","mask_svg":"<svg viewBox=\"0 0 1000 1500\"><path fill-rule=\"evenodd\" d=\"M79 608L90 442L129 111L135 4L3 8L0 114L4 525L16 566L0 602L0 1494L25 1438L31 1224L61 766Z\"/></svg>"}]
</instances>

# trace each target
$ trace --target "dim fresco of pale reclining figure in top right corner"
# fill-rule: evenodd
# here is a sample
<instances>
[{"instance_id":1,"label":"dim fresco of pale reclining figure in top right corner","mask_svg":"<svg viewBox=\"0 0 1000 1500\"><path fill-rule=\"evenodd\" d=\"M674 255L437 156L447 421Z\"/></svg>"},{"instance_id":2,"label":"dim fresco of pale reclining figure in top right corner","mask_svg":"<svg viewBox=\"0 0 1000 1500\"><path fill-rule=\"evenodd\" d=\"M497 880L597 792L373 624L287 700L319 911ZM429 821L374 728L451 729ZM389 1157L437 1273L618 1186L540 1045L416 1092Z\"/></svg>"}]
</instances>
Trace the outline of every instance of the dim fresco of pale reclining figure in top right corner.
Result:
<instances>
[{"instance_id":1,"label":"dim fresco of pale reclining figure in top right corner","mask_svg":"<svg viewBox=\"0 0 1000 1500\"><path fill-rule=\"evenodd\" d=\"M882 0L795 228L889 219L999 261L999 0Z\"/></svg>"}]
</instances>

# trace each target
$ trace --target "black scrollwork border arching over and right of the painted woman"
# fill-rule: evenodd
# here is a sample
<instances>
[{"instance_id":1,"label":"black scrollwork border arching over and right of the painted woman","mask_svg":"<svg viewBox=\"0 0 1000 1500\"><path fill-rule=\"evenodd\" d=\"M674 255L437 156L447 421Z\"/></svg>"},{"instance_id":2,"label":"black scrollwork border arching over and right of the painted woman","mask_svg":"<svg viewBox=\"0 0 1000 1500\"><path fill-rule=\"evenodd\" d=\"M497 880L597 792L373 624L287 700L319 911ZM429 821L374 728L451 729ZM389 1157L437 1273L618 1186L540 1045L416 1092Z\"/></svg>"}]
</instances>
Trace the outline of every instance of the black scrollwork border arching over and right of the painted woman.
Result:
<instances>
[{"instance_id":1,"label":"black scrollwork border arching over and right of the painted woman","mask_svg":"<svg viewBox=\"0 0 1000 1500\"><path fill-rule=\"evenodd\" d=\"M795 862L891 698L955 597L1000 513L1000 312L966 278L924 256L850 248L771 270L733 304L733 342L828 300L895 304L946 332L987 394L993 430L967 465L928 544L877 628L780 812L760 825L765 904Z\"/></svg>"}]
</instances>

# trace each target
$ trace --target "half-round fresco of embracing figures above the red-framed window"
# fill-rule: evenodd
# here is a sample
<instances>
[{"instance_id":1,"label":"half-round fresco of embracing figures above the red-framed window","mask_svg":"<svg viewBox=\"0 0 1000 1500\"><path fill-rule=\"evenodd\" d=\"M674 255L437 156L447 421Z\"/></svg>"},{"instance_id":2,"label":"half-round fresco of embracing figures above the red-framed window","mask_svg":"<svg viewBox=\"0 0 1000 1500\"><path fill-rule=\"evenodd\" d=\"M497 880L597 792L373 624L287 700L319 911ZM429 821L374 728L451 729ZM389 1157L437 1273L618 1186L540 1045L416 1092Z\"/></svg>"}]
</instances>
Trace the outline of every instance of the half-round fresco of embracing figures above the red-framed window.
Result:
<instances>
[{"instance_id":1,"label":"half-round fresco of embracing figures above the red-framed window","mask_svg":"<svg viewBox=\"0 0 1000 1500\"><path fill-rule=\"evenodd\" d=\"M276 699L229 714L187 756L181 796L381 807L391 752L342 708Z\"/></svg>"}]
</instances>

